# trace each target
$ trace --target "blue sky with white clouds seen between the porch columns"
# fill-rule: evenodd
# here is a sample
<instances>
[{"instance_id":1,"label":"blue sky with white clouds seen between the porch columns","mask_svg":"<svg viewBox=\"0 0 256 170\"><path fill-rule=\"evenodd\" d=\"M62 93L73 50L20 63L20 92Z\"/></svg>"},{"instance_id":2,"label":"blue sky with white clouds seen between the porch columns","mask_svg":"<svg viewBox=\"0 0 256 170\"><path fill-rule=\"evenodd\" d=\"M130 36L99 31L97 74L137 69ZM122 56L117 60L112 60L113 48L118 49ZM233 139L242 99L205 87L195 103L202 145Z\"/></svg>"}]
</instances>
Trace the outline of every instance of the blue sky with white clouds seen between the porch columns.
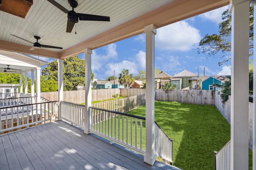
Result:
<instances>
[{"instance_id":1,"label":"blue sky with white clouds seen between the porch columns","mask_svg":"<svg viewBox=\"0 0 256 170\"><path fill-rule=\"evenodd\" d=\"M231 75L230 61L222 66L223 54L206 59L205 55L198 54L197 48L200 39L207 33L218 33L218 23L221 14L228 6L179 21L157 29L155 36L155 68L159 68L171 76L188 70L205 75ZM134 76L139 70L146 70L146 43L145 35L140 34L92 51L92 72L94 78L105 80L108 76L118 74L125 68ZM230 54L228 54L230 55ZM84 59L84 54L79 57ZM228 57L228 56L226 56ZM53 61L46 59L45 61ZM43 69L43 68L42 68Z\"/></svg>"}]
</instances>

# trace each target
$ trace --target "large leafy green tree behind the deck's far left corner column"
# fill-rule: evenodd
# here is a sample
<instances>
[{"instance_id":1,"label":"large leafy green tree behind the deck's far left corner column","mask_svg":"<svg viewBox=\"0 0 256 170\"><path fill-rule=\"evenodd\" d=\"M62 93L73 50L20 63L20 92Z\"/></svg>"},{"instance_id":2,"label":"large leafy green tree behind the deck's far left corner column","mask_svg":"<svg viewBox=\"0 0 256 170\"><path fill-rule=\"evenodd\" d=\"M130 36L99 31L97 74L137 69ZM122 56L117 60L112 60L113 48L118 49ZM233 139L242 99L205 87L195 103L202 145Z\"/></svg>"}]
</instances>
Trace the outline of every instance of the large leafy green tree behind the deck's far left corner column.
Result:
<instances>
[{"instance_id":1,"label":"large leafy green tree behind the deck's far left corner column","mask_svg":"<svg viewBox=\"0 0 256 170\"><path fill-rule=\"evenodd\" d=\"M42 70L42 84L57 84L58 86L58 63L53 61L48 63L48 66ZM91 71L92 80L94 77ZM85 61L78 58L78 55L64 59L63 64L63 90L75 90L76 86L85 85ZM54 90L56 85L53 87L41 86L41 90ZM58 88L57 88L58 89Z\"/></svg>"}]
</instances>

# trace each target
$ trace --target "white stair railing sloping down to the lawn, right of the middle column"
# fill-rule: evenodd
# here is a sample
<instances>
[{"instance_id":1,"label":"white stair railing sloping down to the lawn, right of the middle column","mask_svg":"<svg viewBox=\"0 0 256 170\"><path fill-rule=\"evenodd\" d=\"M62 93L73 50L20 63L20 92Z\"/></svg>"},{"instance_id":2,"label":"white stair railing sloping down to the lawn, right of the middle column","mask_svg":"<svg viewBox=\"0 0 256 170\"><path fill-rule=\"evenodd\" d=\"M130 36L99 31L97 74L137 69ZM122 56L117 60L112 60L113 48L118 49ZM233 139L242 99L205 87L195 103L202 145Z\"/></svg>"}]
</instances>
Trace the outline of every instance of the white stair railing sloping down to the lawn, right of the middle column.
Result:
<instances>
[{"instance_id":1,"label":"white stair railing sloping down to the lawn, right of the middle column","mask_svg":"<svg viewBox=\"0 0 256 170\"><path fill-rule=\"evenodd\" d=\"M155 122L155 147L156 156L163 159L163 162L169 161L173 164L172 146L173 139L170 139L160 126Z\"/></svg>"}]
</instances>

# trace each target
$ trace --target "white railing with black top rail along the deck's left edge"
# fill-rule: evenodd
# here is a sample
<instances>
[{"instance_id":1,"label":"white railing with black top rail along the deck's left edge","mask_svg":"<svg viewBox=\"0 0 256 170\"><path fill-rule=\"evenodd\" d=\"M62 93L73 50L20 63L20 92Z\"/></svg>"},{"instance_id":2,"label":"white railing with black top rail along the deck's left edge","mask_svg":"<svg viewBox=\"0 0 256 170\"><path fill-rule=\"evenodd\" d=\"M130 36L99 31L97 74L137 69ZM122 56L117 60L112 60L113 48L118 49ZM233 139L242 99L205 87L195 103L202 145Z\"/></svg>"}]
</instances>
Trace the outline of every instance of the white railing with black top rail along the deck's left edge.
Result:
<instances>
[{"instance_id":1,"label":"white railing with black top rail along the deck's left edge","mask_svg":"<svg viewBox=\"0 0 256 170\"><path fill-rule=\"evenodd\" d=\"M0 108L0 133L29 127L58 116L58 101Z\"/></svg>"}]
</instances>

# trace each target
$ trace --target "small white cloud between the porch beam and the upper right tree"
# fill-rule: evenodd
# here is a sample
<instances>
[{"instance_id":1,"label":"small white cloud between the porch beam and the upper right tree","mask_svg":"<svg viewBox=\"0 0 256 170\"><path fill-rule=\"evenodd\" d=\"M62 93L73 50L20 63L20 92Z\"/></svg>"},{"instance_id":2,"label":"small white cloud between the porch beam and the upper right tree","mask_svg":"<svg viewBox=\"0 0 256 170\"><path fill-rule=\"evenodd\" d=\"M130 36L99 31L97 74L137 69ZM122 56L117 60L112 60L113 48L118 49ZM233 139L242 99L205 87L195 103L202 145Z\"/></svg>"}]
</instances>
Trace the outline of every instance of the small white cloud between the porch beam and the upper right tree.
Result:
<instances>
[{"instance_id":1,"label":"small white cloud between the porch beam and the upper right tree","mask_svg":"<svg viewBox=\"0 0 256 170\"><path fill-rule=\"evenodd\" d=\"M221 8L218 8L216 10L212 10L210 12L206 12L204 14L199 15L199 17L201 17L203 20L209 20L215 23L220 23L222 21L221 19L221 14L228 9L228 6L224 6Z\"/></svg>"}]
</instances>

